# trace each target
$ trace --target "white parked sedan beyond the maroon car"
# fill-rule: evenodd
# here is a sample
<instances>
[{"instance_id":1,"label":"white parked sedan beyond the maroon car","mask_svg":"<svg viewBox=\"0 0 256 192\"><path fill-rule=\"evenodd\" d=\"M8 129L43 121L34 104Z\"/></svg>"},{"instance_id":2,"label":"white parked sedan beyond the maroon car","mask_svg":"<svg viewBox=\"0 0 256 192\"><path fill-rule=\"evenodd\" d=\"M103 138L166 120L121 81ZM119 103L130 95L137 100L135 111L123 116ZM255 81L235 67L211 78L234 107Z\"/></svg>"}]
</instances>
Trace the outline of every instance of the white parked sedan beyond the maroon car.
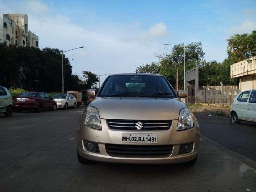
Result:
<instances>
[{"instance_id":1,"label":"white parked sedan beyond the maroon car","mask_svg":"<svg viewBox=\"0 0 256 192\"><path fill-rule=\"evenodd\" d=\"M58 109L76 108L76 98L71 94L56 94L53 99L56 101Z\"/></svg>"}]
</instances>

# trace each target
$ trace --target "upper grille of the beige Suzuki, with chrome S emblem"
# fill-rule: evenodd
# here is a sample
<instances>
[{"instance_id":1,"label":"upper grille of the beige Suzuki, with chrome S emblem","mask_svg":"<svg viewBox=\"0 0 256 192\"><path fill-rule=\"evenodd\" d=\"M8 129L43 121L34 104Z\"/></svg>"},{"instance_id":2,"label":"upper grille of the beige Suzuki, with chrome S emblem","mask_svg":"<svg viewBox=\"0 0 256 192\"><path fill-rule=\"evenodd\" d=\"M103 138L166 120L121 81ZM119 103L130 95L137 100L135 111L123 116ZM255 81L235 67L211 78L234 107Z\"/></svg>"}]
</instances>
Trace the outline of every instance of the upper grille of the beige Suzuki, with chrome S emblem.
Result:
<instances>
[{"instance_id":1,"label":"upper grille of the beige Suzuki, with chrome S emblem","mask_svg":"<svg viewBox=\"0 0 256 192\"><path fill-rule=\"evenodd\" d=\"M168 130L172 125L170 120L108 120L108 126L115 130Z\"/></svg>"}]
</instances>

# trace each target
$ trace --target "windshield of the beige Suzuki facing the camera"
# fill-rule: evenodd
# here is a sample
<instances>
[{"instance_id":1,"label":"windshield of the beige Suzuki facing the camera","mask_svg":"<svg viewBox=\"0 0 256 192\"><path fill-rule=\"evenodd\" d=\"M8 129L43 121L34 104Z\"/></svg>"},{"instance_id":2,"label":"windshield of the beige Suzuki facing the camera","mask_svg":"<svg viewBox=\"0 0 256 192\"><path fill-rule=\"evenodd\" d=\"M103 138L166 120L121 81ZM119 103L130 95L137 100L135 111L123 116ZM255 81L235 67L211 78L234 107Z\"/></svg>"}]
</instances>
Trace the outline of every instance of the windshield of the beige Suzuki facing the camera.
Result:
<instances>
[{"instance_id":1,"label":"windshield of the beige Suzuki facing the camera","mask_svg":"<svg viewBox=\"0 0 256 192\"><path fill-rule=\"evenodd\" d=\"M176 97L162 76L123 75L110 76L100 97Z\"/></svg>"}]
</instances>

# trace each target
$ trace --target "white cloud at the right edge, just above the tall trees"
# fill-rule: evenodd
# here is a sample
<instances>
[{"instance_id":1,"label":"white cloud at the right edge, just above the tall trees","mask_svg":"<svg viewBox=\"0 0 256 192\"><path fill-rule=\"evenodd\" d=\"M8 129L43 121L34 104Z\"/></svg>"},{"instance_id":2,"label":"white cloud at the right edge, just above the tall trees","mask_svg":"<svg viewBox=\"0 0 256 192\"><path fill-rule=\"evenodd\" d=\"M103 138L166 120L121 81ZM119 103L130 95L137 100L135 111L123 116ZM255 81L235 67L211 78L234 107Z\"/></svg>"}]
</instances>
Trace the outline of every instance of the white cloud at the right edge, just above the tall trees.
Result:
<instances>
[{"instance_id":1,"label":"white cloud at the right edge, just above the tall trees","mask_svg":"<svg viewBox=\"0 0 256 192\"><path fill-rule=\"evenodd\" d=\"M251 20L244 21L241 25L232 25L227 33L234 35L237 33L251 33L256 29L256 22L252 22Z\"/></svg>"}]
</instances>

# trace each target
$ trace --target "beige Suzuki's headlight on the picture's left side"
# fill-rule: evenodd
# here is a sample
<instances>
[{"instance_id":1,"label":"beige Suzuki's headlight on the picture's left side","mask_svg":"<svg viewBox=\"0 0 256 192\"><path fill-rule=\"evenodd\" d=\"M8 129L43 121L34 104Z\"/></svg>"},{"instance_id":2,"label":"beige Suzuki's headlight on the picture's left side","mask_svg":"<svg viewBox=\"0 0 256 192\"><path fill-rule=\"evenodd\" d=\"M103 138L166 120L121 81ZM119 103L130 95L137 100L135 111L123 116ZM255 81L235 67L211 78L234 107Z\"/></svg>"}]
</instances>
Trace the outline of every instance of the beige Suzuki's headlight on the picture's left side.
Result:
<instances>
[{"instance_id":1,"label":"beige Suzuki's headlight on the picture's left side","mask_svg":"<svg viewBox=\"0 0 256 192\"><path fill-rule=\"evenodd\" d=\"M92 127L94 129L101 130L99 112L96 108L89 106L86 110L86 118L84 119L84 125Z\"/></svg>"}]
</instances>

